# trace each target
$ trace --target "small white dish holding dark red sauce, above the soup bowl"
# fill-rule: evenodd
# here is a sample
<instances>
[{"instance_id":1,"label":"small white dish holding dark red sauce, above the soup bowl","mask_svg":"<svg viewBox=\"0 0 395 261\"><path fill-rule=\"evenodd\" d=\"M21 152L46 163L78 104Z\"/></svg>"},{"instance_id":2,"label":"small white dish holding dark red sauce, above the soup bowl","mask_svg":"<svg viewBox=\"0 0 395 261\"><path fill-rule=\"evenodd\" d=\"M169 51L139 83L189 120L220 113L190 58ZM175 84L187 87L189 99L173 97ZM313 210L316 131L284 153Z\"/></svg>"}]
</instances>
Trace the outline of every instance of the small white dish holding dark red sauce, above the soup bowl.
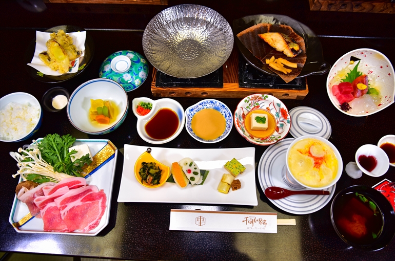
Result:
<instances>
[{"instance_id":1,"label":"small white dish holding dark red sauce, above the soup bowl","mask_svg":"<svg viewBox=\"0 0 395 261\"><path fill-rule=\"evenodd\" d=\"M362 155L365 155L366 157L373 156L374 158L376 158L377 165L373 170L368 171L361 166L359 158ZM355 162L357 163L357 166L362 170L362 172L372 177L383 176L389 168L389 160L387 154L384 152L383 149L373 144L365 144L361 146L355 154Z\"/></svg>"}]
</instances>

